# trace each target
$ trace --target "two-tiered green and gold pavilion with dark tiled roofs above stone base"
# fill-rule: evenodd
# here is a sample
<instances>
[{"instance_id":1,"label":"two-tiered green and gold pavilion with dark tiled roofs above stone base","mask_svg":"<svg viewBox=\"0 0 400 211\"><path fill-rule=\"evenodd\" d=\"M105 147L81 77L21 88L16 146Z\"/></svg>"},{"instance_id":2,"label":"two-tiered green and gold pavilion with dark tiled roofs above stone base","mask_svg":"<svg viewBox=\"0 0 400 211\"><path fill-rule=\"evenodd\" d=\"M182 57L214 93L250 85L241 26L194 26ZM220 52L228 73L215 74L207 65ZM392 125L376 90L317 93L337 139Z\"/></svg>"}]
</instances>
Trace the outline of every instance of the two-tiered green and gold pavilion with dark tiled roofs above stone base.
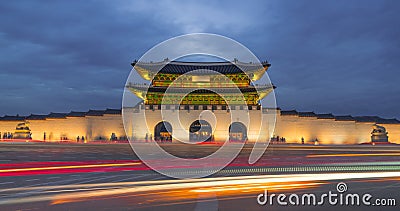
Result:
<instances>
[{"instance_id":1,"label":"two-tiered green and gold pavilion with dark tiled roofs above stone base","mask_svg":"<svg viewBox=\"0 0 400 211\"><path fill-rule=\"evenodd\" d=\"M267 62L261 66L236 60L235 63L166 60L160 63L135 62L132 65L142 78L151 81L150 87L138 84L128 86L145 105L236 105L241 104L242 97L249 106L260 105L259 101L273 89L268 85L255 87L251 84L263 76L270 66ZM175 89L174 94L190 88L196 88L196 91L188 93L183 99L179 94L164 97L168 87ZM210 92L207 88L214 88L220 92ZM235 92L236 88L240 89L240 93ZM228 94L223 99L219 93Z\"/></svg>"}]
</instances>

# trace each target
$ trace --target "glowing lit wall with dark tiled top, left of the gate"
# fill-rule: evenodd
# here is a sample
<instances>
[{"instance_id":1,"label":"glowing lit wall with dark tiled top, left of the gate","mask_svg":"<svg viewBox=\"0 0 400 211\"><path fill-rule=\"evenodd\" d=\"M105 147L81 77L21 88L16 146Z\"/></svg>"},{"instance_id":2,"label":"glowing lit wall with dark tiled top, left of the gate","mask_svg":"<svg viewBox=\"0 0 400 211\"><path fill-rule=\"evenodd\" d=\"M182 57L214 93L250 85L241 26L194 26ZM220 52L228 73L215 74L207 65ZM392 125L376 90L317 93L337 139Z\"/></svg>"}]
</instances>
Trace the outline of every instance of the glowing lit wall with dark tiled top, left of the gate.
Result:
<instances>
[{"instance_id":1,"label":"glowing lit wall with dark tiled top, left of the gate","mask_svg":"<svg viewBox=\"0 0 400 211\"><path fill-rule=\"evenodd\" d=\"M1 139L28 138L29 133L41 141L126 140L120 109L0 117Z\"/></svg>"}]
</instances>

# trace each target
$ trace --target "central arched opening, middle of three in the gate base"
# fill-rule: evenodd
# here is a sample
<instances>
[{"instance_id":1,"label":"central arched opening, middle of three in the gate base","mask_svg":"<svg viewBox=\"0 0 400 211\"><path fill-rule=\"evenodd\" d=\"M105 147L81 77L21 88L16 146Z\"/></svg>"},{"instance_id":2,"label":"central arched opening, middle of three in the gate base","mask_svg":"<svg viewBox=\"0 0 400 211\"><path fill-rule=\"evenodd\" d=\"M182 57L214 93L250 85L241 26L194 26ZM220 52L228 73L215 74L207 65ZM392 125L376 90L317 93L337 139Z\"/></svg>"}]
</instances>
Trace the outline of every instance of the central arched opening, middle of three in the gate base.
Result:
<instances>
[{"instance_id":1,"label":"central arched opening, middle of three in the gate base","mask_svg":"<svg viewBox=\"0 0 400 211\"><path fill-rule=\"evenodd\" d=\"M189 140L193 142L211 142L212 127L206 120L196 120L189 128Z\"/></svg>"}]
</instances>

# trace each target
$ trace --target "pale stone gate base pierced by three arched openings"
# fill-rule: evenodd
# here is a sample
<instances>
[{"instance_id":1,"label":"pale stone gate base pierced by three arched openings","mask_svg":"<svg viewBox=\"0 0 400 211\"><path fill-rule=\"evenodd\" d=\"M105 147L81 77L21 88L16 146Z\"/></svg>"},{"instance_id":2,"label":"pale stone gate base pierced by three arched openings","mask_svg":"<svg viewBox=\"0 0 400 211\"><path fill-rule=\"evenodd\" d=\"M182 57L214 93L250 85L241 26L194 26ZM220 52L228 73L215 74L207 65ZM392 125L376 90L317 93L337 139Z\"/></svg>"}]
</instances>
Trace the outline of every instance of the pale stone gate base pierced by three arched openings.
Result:
<instances>
[{"instance_id":1,"label":"pale stone gate base pierced by three arched openings","mask_svg":"<svg viewBox=\"0 0 400 211\"><path fill-rule=\"evenodd\" d=\"M129 119L132 123L128 128L128 136L134 137L135 140L145 140L146 134L154 136L154 128L162 119L172 126L173 141L184 140L189 141L189 127L196 120L206 120L214 128L213 136L215 141L226 141L229 137L229 126L232 122L240 122L247 127L248 141L255 142L257 138L261 141L266 141L268 138L267 120L261 118L262 111L257 110L254 106L252 110L223 110L217 107L212 110L208 106L207 110L199 109L194 110L190 107L189 110L185 109L141 109L129 114ZM128 113L128 112L127 112ZM265 115L264 115L265 116ZM250 117L250 118L249 118ZM272 134L272 130L271 130Z\"/></svg>"}]
</instances>

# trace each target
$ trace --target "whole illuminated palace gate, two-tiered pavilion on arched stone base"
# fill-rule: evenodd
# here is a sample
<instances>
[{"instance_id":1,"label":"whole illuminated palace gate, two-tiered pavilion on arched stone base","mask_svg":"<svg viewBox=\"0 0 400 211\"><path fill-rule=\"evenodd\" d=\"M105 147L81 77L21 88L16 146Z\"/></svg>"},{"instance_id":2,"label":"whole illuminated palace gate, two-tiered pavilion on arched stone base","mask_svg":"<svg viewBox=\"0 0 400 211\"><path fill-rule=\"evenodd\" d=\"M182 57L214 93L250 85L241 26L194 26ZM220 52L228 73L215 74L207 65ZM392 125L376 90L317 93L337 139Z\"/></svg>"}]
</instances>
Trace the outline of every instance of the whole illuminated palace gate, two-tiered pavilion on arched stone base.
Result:
<instances>
[{"instance_id":1,"label":"whole illuminated palace gate, two-tiered pavilion on arched stone base","mask_svg":"<svg viewBox=\"0 0 400 211\"><path fill-rule=\"evenodd\" d=\"M266 124L262 115L267 111L260 100L274 87L253 82L263 76L269 63L164 60L132 65L142 78L150 81L150 86L127 85L143 100L129 118L132 126L128 128L132 130L128 135L132 139L194 142L268 139L268 131L262 129ZM237 116L232 120L233 113ZM178 115L179 120L165 119ZM247 117L250 120L246 122Z\"/></svg>"}]
</instances>

